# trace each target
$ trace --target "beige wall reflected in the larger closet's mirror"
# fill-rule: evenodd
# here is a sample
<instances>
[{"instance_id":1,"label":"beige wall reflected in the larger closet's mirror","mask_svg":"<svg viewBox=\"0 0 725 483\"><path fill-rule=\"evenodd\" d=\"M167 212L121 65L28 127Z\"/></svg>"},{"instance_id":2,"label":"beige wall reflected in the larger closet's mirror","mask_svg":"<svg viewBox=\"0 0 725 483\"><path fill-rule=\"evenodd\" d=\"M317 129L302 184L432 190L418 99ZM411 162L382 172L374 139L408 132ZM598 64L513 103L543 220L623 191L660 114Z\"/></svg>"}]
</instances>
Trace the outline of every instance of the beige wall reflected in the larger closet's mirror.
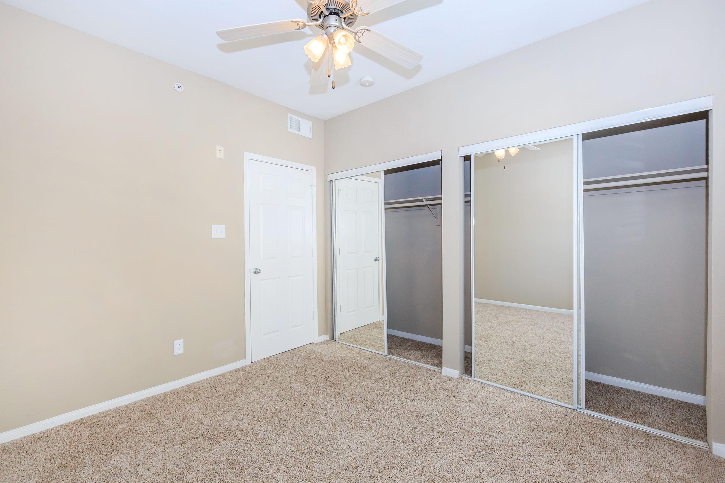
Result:
<instances>
[{"instance_id":1,"label":"beige wall reflected in the larger closet's mirror","mask_svg":"<svg viewBox=\"0 0 725 483\"><path fill-rule=\"evenodd\" d=\"M574 143L538 147L473 158L476 298L571 310Z\"/></svg>"}]
</instances>

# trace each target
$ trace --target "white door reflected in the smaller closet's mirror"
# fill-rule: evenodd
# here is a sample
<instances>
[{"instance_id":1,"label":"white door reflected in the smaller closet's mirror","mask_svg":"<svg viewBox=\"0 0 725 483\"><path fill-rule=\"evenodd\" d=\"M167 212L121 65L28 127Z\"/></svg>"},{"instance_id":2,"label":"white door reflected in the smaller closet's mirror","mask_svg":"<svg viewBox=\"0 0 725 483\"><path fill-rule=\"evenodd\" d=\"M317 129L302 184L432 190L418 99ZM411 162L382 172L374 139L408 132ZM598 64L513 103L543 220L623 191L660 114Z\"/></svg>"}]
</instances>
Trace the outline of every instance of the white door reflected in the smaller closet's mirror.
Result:
<instances>
[{"instance_id":1,"label":"white door reflected in the smaller closet's mirror","mask_svg":"<svg viewBox=\"0 0 725 483\"><path fill-rule=\"evenodd\" d=\"M335 182L338 333L379 320L379 180L360 176Z\"/></svg>"}]
</instances>

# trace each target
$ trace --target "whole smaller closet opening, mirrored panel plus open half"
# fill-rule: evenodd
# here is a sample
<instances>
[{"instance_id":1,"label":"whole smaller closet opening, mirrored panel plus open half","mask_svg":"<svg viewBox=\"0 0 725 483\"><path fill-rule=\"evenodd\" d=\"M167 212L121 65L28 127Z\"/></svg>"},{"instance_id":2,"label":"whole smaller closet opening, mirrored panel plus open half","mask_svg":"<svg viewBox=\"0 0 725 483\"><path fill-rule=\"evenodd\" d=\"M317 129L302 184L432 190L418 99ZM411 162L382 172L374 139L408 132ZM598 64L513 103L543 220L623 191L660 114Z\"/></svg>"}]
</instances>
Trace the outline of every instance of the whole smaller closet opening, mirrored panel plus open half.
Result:
<instances>
[{"instance_id":1,"label":"whole smaller closet opening, mirrored panel plus open half","mask_svg":"<svg viewBox=\"0 0 725 483\"><path fill-rule=\"evenodd\" d=\"M442 368L440 160L333 183L336 340Z\"/></svg>"}]
</instances>

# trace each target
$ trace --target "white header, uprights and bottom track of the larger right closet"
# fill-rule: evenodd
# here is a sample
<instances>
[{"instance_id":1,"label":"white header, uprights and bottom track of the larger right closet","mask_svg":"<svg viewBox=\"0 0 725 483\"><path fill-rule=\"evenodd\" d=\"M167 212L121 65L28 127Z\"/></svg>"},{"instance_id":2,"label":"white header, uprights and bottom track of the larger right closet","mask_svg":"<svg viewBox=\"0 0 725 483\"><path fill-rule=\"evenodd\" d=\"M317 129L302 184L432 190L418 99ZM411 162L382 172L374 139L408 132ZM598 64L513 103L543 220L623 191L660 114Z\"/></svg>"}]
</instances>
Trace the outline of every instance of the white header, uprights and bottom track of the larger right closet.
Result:
<instances>
[{"instance_id":1,"label":"white header, uprights and bottom track of the larger right closet","mask_svg":"<svg viewBox=\"0 0 725 483\"><path fill-rule=\"evenodd\" d=\"M598 131L598 130L605 130L610 129L612 127L621 127L625 125L631 125L631 124L637 124L638 122L646 122L646 121L653 121L655 119L664 119L666 117L675 117L682 114L692 114L695 112L704 112L707 111L708 115L712 115L713 110L713 96L703 96L700 98L693 98L689 99L687 101L680 101L675 102L673 104L666 104L663 106L656 106L652 107L650 109L642 109L640 111L634 111L634 112L628 112L626 114L617 114L610 117L602 117L600 119L592 119L590 121L585 122L578 122L576 124L572 125L566 125L566 126L560 126L560 127L553 127L551 129L547 130L541 130L537 131L535 133L528 133L523 135L515 135L510 136L509 138L501 138L497 140L489 140L484 141L483 143L476 143L471 144L469 146L462 146L458 149L458 156L460 158L460 162L463 162L465 160L466 156L471 156L471 222L473 222L473 156L476 154L481 153L488 153L495 151L497 149L501 148L508 148L509 146L522 146L525 144L537 144L541 143L542 140L552 140L556 138L567 138L567 137L573 137L574 142L574 151L575 151L575 182L574 184L574 200L575 200L575 214L574 214L574 240L575 240L575 272L574 272L574 287L573 290L575 291L574 300L574 315L575 317L578 316L578 319L581 320L581 324L578 324L575 322L574 324L574 341L573 341L573 355L574 355L574 370L573 370L573 378L574 378L574 393L573 393L573 405L569 406L566 404L558 403L557 401L547 400L546 398L541 398L537 395L531 395L526 394L526 392L521 392L518 390L513 390L513 392L519 392L524 395L529 395L533 398L541 399L541 400L547 400L548 402L559 404L560 406L566 406L569 408L573 408L576 411L580 411L582 413L587 413L591 416L596 416L601 419L607 419L609 421L614 421L619 424L624 424L629 427L634 427L637 429L642 429L643 431L659 434L660 436L668 437L672 440L678 440L681 442L686 442L691 445L700 446L708 448L708 446L703 445L703 442L692 440L687 437L682 437L676 434L668 433L665 431L661 431L660 429L654 429L646 426L642 426L640 424L631 423L629 421L624 421L622 419L613 418L611 416L606 416L604 414L595 413L594 411L589 411L586 408L581 408L581 402L583 401L584 397L584 388L582 387L581 395L579 394L579 377L584 377L584 334L586 332L586 324L585 324L585 316L584 316L584 219L581 215L583 215L583 212L581 211L581 208L584 203L584 183L582 181L582 161L583 156L581 152L581 144L582 144L582 135L586 133L591 133L592 131ZM708 149L710 146L708 146ZM712 189L712 188L711 188ZM708 200L708 209L711 209L710 206L711 201ZM708 253L708 271L712 270L712 259L711 256ZM473 346L473 343L475 342L475 335L474 335L474 307L475 307L475 301L473 300L473 293L474 293L474 285L473 285L473 224L471 225L471 343L472 343L472 376L475 375L475 348ZM710 313L708 308L708 320L710 319ZM580 327L579 327L580 326ZM577 333L579 330L581 330L581 340L579 340L579 334ZM581 346L580 346L581 343ZM462 348L463 350L463 348ZM579 356L581 355L581 366L579 365ZM707 355L706 355L707 356ZM476 379L481 381L481 379ZM482 381L483 382L483 381ZM710 382L708 380L708 382ZM491 384L491 383L489 383ZM502 386L498 386L502 387ZM512 390L508 387L502 387L503 389ZM581 400L580 400L581 398Z\"/></svg>"}]
</instances>

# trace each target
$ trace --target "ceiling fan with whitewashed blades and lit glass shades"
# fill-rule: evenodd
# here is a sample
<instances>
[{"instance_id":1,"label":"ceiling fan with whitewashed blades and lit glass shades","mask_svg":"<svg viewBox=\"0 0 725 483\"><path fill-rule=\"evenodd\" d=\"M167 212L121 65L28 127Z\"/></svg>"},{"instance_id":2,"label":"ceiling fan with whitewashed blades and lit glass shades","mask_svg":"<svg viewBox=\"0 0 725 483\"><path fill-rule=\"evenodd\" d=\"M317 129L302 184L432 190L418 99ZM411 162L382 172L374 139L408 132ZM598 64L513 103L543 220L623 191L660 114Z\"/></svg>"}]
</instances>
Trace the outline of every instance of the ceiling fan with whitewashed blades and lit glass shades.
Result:
<instances>
[{"instance_id":1,"label":"ceiling fan with whitewashed blades and lit glass shades","mask_svg":"<svg viewBox=\"0 0 725 483\"><path fill-rule=\"evenodd\" d=\"M335 70L352 65L350 52L360 43L381 56L413 69L423 56L413 49L376 32L369 27L352 28L357 17L399 4L403 0L307 0L307 20L292 19L279 22L246 25L217 30L223 41L240 41L276 33L293 32L307 27L323 31L305 45L305 54L315 62L310 76L311 85L323 85ZM335 81L332 81L335 88Z\"/></svg>"}]
</instances>

